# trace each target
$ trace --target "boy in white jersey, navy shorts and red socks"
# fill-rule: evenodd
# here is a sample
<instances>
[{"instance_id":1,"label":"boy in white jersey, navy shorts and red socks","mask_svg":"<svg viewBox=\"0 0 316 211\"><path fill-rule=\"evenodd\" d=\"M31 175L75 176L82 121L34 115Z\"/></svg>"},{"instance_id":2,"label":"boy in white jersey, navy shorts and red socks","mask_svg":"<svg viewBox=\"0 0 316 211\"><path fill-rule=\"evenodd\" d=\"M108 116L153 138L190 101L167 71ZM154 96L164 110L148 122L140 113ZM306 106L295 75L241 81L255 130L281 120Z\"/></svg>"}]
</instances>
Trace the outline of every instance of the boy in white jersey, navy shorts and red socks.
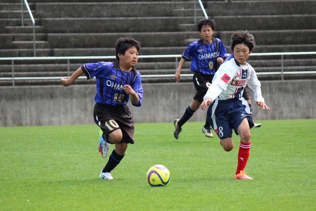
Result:
<instances>
[{"instance_id":1,"label":"boy in white jersey, navy shorts and red socks","mask_svg":"<svg viewBox=\"0 0 316 211\"><path fill-rule=\"evenodd\" d=\"M205 110L210 106L207 118L225 151L229 152L234 148L232 129L240 136L235 178L252 179L244 171L251 147L250 128L254 125L251 115L245 111L246 101L241 100L246 84L254 91L256 104L263 109L270 108L262 97L261 84L256 72L247 63L249 54L255 46L254 37L247 31L237 31L231 40L234 59L223 63L215 73L201 103L201 109Z\"/></svg>"}]
</instances>

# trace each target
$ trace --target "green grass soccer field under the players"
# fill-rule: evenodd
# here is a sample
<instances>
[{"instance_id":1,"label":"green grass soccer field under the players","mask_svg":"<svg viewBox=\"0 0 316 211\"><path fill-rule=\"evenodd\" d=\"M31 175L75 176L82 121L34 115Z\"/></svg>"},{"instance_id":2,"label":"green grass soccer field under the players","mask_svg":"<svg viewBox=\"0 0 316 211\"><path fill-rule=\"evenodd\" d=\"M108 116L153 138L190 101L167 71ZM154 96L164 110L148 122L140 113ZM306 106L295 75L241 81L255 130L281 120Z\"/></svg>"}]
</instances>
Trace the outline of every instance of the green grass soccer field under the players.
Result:
<instances>
[{"instance_id":1,"label":"green grass soccer field under the players","mask_svg":"<svg viewBox=\"0 0 316 211\"><path fill-rule=\"evenodd\" d=\"M0 127L0 210L315 211L316 119L260 123L251 129L252 181L234 179L238 137L225 152L202 123L184 125L178 140L172 123L136 124L112 181L99 178L108 159L94 125ZM166 187L146 182L155 164L171 172Z\"/></svg>"}]
</instances>

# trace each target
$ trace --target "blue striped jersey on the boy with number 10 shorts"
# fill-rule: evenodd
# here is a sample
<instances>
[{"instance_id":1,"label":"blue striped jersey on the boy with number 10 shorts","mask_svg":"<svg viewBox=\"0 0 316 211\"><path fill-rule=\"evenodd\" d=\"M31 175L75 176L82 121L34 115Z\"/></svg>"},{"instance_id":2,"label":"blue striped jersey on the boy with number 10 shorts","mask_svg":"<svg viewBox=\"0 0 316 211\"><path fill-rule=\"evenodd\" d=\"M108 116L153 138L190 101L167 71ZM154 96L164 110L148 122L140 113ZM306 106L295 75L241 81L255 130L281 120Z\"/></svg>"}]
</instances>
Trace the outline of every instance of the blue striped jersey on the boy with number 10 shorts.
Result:
<instances>
[{"instance_id":1,"label":"blue striped jersey on the boy with number 10 shorts","mask_svg":"<svg viewBox=\"0 0 316 211\"><path fill-rule=\"evenodd\" d=\"M125 105L129 100L129 94L123 90L123 86L127 84L134 89L139 98L139 102L133 105L141 106L143 87L141 75L135 68L130 72L124 72L116 62L97 62L84 64L81 69L88 80L93 77L97 80L95 102L112 106Z\"/></svg>"}]
</instances>

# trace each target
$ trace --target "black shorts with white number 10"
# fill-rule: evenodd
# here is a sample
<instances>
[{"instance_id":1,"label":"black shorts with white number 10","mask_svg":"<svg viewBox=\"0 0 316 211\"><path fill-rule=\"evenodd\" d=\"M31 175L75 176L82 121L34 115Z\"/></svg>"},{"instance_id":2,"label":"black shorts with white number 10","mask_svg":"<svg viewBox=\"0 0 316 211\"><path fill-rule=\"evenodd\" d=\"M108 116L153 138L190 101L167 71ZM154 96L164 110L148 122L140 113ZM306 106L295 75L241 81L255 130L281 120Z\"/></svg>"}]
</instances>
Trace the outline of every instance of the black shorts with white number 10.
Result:
<instances>
[{"instance_id":1,"label":"black shorts with white number 10","mask_svg":"<svg viewBox=\"0 0 316 211\"><path fill-rule=\"evenodd\" d=\"M134 143L134 120L127 105L110 106L96 103L93 119L105 135L120 129L123 137L120 143Z\"/></svg>"}]
</instances>

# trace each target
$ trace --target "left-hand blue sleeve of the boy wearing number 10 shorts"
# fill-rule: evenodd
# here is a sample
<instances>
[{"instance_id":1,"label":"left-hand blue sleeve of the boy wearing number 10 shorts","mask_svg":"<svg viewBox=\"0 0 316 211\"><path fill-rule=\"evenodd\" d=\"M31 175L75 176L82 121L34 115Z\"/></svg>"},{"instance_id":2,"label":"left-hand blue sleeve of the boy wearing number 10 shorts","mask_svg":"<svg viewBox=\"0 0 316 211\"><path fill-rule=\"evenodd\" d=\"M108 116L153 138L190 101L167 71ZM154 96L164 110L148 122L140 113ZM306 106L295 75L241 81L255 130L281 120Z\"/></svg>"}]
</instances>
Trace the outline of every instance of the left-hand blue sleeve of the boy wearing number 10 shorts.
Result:
<instances>
[{"instance_id":1,"label":"left-hand blue sleeve of the boy wearing number 10 shorts","mask_svg":"<svg viewBox=\"0 0 316 211\"><path fill-rule=\"evenodd\" d=\"M105 72L104 68L106 66L109 66L109 64L112 64L112 62L97 62L97 63L86 63L81 66L81 69L85 76L87 77L87 80L92 79L93 77L99 76L103 77ZM111 70L112 66L109 66Z\"/></svg>"}]
</instances>

